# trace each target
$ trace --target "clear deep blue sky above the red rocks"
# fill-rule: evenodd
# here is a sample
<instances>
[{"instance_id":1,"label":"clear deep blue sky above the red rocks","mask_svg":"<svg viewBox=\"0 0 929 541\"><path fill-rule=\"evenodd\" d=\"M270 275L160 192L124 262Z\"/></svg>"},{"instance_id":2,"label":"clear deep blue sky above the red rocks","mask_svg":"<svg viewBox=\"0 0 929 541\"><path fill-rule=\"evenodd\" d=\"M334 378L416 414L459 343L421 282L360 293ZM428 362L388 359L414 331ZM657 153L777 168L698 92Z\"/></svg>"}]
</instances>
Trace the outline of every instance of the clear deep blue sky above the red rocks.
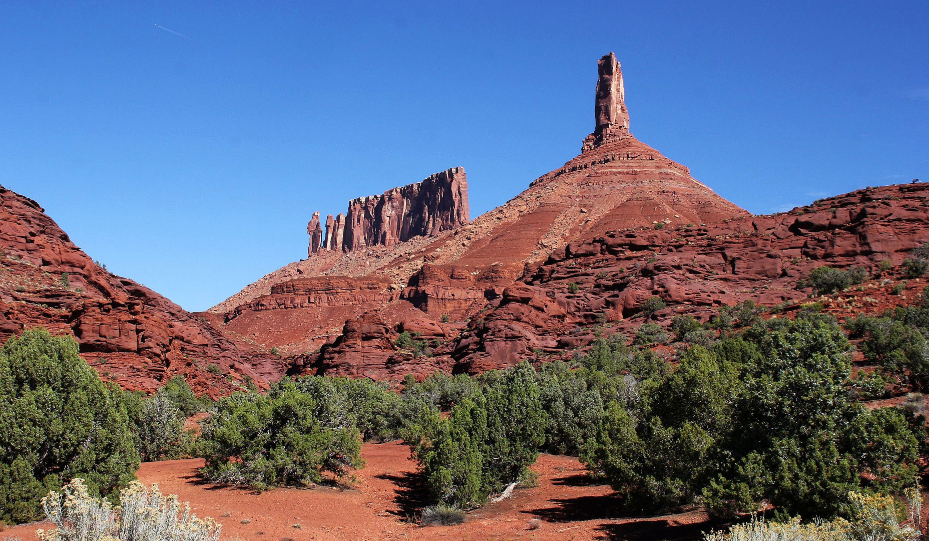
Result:
<instances>
[{"instance_id":1,"label":"clear deep blue sky above the red rocks","mask_svg":"<svg viewBox=\"0 0 929 541\"><path fill-rule=\"evenodd\" d=\"M314 210L456 165L503 204L580 151L609 51L636 137L754 213L929 180L925 0L142 4L0 4L0 184L188 310Z\"/></svg>"}]
</instances>

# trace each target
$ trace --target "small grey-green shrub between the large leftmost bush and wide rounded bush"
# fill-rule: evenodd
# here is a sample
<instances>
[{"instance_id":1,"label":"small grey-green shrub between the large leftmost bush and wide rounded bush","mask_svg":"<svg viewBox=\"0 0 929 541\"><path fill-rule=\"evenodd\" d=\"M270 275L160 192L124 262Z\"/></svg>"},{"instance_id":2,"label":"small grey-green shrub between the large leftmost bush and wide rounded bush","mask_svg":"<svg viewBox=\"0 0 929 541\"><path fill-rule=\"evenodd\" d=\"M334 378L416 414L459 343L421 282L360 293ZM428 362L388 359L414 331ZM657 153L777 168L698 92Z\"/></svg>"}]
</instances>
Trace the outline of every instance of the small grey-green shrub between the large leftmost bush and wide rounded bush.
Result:
<instances>
[{"instance_id":1,"label":"small grey-green shrub between the large leftmost bush and wide rounded bush","mask_svg":"<svg viewBox=\"0 0 929 541\"><path fill-rule=\"evenodd\" d=\"M184 429L186 418L164 389L142 402L134 420L142 460L173 460L190 455L193 436Z\"/></svg>"}]
</instances>

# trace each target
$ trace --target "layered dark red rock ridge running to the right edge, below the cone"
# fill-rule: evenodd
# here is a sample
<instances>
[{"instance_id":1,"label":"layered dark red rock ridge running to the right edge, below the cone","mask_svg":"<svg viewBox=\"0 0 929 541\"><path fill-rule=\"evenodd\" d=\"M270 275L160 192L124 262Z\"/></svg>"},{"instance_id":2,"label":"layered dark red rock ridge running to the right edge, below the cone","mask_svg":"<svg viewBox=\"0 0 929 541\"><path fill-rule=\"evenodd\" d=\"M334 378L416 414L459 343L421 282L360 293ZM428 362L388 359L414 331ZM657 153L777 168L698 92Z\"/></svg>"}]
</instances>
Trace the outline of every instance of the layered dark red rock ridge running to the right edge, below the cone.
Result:
<instances>
[{"instance_id":1,"label":"layered dark red rock ridge running to the right edge, below the cone","mask_svg":"<svg viewBox=\"0 0 929 541\"><path fill-rule=\"evenodd\" d=\"M663 324L677 313L706 321L742 300L773 306L805 299L811 290L797 285L816 267L877 273L879 262L900 264L927 239L929 184L853 191L788 213L702 227L597 235L568 244L530 272L527 284L492 298L491 310L459 338L455 370L534 360L534 350L565 355L589 344L596 324L608 325L601 329L607 334L631 332L652 296L668 304L657 314Z\"/></svg>"}]
</instances>

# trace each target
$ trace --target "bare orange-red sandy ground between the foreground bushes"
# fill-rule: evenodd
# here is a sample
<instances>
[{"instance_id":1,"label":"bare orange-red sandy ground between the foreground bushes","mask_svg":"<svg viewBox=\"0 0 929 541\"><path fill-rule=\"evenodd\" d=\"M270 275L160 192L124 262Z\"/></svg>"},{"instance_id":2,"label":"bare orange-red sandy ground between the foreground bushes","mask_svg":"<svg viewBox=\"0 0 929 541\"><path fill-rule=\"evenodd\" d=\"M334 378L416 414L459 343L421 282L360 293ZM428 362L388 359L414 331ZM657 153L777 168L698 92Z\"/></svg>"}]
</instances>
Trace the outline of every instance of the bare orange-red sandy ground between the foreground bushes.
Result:
<instances>
[{"instance_id":1,"label":"bare orange-red sandy ground between the foreground bushes","mask_svg":"<svg viewBox=\"0 0 929 541\"><path fill-rule=\"evenodd\" d=\"M608 486L592 484L576 458L542 455L539 486L517 490L512 499L468 513L464 524L420 527L407 521L422 505L420 478L409 449L399 443L365 443L352 489L274 489L264 493L217 487L197 478L203 460L142 464L138 478L157 482L165 494L190 501L198 516L223 525L223 541L303 541L305 539L699 539L712 524L705 512L650 518L619 518ZM530 519L542 525L531 530ZM248 520L248 523L242 523ZM299 527L294 527L294 525ZM3 536L35 539L43 524L20 525Z\"/></svg>"}]
</instances>

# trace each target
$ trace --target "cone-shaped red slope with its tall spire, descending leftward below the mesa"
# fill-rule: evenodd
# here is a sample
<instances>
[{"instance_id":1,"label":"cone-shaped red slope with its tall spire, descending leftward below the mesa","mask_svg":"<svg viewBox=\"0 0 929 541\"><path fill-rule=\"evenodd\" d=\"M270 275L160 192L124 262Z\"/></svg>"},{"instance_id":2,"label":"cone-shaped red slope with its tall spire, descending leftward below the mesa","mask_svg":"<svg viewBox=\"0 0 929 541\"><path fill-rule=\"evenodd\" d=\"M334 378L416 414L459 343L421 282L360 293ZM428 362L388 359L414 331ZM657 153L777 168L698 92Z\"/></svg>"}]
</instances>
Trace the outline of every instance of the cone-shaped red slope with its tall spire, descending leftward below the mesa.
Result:
<instances>
[{"instance_id":1,"label":"cone-shaped red slope with its tall spire, descending leftward below the mesa","mask_svg":"<svg viewBox=\"0 0 929 541\"><path fill-rule=\"evenodd\" d=\"M469 223L451 223L452 229L436 236L367 244L344 253L319 250L210 311L224 314L223 329L230 334L266 348L303 353L347 332L345 322L365 310L377 310L385 321L405 314L412 318L407 326L441 319L463 322L482 309L487 291L496 290L499 296L527 267L579 239L622 228L674 228L745 216L748 213L739 206L690 177L687 167L633 137L622 71L609 54L599 62L595 132L584 140L582 153L531 182L505 205ZM320 223L318 217L316 222ZM321 231L321 226L311 229ZM366 230L352 236L375 238L375 233ZM321 235L323 244L325 237L333 235ZM311 239L313 245L320 242L315 236ZM303 281L308 277L331 277L338 291L321 296L321 282L306 290ZM382 287L372 289L370 282L360 281L362 277L376 279ZM294 279L304 285L285 286ZM343 337L340 344L346 340ZM415 369L403 364L396 373Z\"/></svg>"}]
</instances>

